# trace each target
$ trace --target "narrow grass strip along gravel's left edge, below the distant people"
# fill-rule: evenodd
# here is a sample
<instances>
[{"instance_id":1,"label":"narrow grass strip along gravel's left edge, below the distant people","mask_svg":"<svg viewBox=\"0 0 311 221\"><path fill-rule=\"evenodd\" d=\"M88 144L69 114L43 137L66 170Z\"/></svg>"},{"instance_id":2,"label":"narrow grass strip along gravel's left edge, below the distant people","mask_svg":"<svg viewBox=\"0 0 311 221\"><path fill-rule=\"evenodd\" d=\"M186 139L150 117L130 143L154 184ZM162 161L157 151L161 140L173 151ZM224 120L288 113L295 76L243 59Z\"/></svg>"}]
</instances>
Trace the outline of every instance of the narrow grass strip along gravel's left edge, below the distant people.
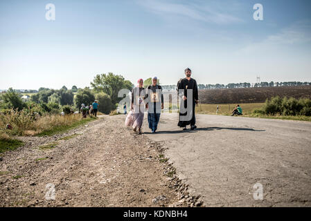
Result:
<instances>
[{"instance_id":1,"label":"narrow grass strip along gravel's left edge, below the distant people","mask_svg":"<svg viewBox=\"0 0 311 221\"><path fill-rule=\"evenodd\" d=\"M59 126L55 126L51 129L48 129L46 131L42 131L41 133L38 133L37 136L38 137L43 137L43 136L51 136L51 135L55 135L57 133L63 133L66 131L69 131L77 126L81 126L82 124L86 124L88 122L91 122L93 120L97 119L96 117L87 117L87 118L82 118L78 121L75 121L71 124L61 124Z\"/></svg>"}]
</instances>

